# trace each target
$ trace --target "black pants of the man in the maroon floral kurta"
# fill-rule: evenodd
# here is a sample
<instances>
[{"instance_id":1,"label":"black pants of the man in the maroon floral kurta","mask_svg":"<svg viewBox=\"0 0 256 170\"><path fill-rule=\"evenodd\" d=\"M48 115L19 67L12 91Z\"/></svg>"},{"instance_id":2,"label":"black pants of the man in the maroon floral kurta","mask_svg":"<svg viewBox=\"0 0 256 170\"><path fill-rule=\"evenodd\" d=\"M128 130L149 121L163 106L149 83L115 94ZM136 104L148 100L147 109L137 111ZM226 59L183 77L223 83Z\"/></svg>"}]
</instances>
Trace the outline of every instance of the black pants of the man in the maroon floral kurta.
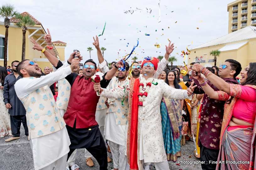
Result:
<instances>
[{"instance_id":1,"label":"black pants of the man in the maroon floral kurta","mask_svg":"<svg viewBox=\"0 0 256 170\"><path fill-rule=\"evenodd\" d=\"M200 161L205 161L204 164L201 164L203 170L216 169L215 163L209 163L209 161L217 161L220 150L209 149L207 147L200 146Z\"/></svg>"}]
</instances>

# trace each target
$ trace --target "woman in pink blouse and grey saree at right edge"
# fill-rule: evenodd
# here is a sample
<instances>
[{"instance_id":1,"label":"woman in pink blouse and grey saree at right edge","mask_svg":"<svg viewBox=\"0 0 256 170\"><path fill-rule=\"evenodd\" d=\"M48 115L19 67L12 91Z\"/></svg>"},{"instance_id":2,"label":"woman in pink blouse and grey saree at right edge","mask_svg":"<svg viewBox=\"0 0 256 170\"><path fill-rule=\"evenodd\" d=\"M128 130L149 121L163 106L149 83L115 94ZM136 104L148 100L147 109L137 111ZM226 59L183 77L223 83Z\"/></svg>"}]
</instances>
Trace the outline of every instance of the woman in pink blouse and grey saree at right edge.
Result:
<instances>
[{"instance_id":1,"label":"woman in pink blouse and grey saree at right edge","mask_svg":"<svg viewBox=\"0 0 256 170\"><path fill-rule=\"evenodd\" d=\"M210 98L227 100L216 170L256 169L256 63L250 63L241 71L241 85L228 84L199 64L194 65L193 70L193 77ZM201 74L221 91L214 91Z\"/></svg>"}]
</instances>

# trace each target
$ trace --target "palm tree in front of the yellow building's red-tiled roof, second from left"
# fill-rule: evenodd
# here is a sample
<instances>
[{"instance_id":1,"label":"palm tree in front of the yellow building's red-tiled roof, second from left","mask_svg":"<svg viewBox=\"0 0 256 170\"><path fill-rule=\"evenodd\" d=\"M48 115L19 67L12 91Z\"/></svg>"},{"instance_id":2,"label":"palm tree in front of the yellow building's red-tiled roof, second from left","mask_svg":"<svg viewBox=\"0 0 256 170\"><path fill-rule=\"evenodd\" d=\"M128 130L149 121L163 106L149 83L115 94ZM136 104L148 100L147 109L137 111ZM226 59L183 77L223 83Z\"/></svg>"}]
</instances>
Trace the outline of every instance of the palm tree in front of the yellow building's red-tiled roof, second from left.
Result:
<instances>
[{"instance_id":1,"label":"palm tree in front of the yellow building's red-tiled roof, second from left","mask_svg":"<svg viewBox=\"0 0 256 170\"><path fill-rule=\"evenodd\" d=\"M35 21L30 18L29 15L21 15L18 14L16 19L19 20L18 23L15 23L18 28L22 28L22 54L21 61L25 59L25 47L26 47L26 31L28 27L33 27L35 25Z\"/></svg>"}]
</instances>

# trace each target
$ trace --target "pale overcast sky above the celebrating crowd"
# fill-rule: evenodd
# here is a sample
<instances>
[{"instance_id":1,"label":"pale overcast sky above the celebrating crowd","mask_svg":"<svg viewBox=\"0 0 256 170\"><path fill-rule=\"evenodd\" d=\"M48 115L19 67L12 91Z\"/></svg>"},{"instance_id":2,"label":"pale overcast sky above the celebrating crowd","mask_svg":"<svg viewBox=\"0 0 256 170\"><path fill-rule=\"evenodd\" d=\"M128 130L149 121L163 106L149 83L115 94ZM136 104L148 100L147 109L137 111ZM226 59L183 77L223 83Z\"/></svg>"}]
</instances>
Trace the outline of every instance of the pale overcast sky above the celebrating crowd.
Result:
<instances>
[{"instance_id":1,"label":"pale overcast sky above the celebrating crowd","mask_svg":"<svg viewBox=\"0 0 256 170\"><path fill-rule=\"evenodd\" d=\"M87 47L92 47L94 50L91 51L91 57L97 61L92 37L102 33L106 22L105 32L103 36L99 37L99 41L100 47L107 49L104 52L104 58L108 62L116 61L130 53L133 45L137 44L137 39L139 39L139 46L135 49L136 54L130 58L135 55L142 60L145 56L164 55L165 45L170 39L177 47L171 55L175 55L179 59L174 64L182 65L183 58L180 57L180 54L182 50L186 50L186 46L193 42L189 46L191 49L228 33L227 4L233 1L161 0L160 23L159 1L157 0L54 0L40 2L2 0L1 4L11 3L20 13L25 11L30 13L42 23L45 29L50 29L53 41L66 42L66 58L73 52L73 49L78 49L85 61L90 58ZM124 13L126 10L136 10L136 8L142 10L137 9L133 14ZM151 13L146 8L150 8ZM175 23L176 21L177 23ZM146 36L145 33L150 36ZM160 48L156 48L155 43L160 44Z\"/></svg>"}]
</instances>

